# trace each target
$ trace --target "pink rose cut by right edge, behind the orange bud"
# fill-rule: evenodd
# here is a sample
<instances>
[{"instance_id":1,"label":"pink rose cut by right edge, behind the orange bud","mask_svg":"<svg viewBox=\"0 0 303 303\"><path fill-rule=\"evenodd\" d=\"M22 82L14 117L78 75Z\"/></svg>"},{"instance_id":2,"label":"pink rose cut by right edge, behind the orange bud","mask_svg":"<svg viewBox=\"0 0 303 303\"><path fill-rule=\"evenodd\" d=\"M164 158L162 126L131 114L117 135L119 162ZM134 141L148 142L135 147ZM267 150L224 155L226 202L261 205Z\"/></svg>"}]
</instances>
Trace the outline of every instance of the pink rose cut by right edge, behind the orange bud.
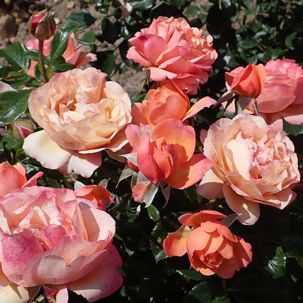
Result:
<instances>
[{"instance_id":1,"label":"pink rose cut by right edge, behind the orange bud","mask_svg":"<svg viewBox=\"0 0 303 303\"><path fill-rule=\"evenodd\" d=\"M238 67L232 74L241 72ZM303 68L295 60L270 60L265 65L265 85L257 98L258 109L268 124L283 128L284 118L288 123L303 124ZM229 85L226 85L229 89ZM228 110L235 111L232 106ZM246 108L247 113L253 113L251 103Z\"/></svg>"}]
</instances>

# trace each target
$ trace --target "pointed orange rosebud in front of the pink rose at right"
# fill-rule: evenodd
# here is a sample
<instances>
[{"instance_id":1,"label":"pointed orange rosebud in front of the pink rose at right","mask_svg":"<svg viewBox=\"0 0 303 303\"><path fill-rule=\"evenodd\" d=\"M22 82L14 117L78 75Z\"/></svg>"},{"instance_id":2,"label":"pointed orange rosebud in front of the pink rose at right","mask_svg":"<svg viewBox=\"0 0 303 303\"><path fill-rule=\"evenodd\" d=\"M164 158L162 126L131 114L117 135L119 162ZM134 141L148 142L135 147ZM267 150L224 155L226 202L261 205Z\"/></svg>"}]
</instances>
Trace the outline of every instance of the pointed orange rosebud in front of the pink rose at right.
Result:
<instances>
[{"instance_id":1,"label":"pointed orange rosebud in front of the pink rose at right","mask_svg":"<svg viewBox=\"0 0 303 303\"><path fill-rule=\"evenodd\" d=\"M249 63L237 75L225 73L225 80L230 85L231 92L250 98L258 98L265 83L265 69L262 64Z\"/></svg>"}]
</instances>

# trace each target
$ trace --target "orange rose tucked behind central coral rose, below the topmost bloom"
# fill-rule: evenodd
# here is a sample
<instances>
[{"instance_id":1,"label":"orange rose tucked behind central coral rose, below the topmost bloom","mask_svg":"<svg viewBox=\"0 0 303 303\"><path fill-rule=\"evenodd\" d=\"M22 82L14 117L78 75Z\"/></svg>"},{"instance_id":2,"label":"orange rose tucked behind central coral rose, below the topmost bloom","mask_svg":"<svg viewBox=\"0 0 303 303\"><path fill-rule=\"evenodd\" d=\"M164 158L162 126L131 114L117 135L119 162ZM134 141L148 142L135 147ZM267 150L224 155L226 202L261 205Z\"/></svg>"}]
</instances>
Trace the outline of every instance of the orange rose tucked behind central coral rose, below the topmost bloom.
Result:
<instances>
[{"instance_id":1,"label":"orange rose tucked behind central coral rose, below the topmost bloom","mask_svg":"<svg viewBox=\"0 0 303 303\"><path fill-rule=\"evenodd\" d=\"M158 89L152 89L148 100L133 105L132 123L139 126L149 125L152 129L157 123L169 118L177 118L183 122L215 103L214 99L204 97L189 109L188 96L172 81Z\"/></svg>"}]
</instances>

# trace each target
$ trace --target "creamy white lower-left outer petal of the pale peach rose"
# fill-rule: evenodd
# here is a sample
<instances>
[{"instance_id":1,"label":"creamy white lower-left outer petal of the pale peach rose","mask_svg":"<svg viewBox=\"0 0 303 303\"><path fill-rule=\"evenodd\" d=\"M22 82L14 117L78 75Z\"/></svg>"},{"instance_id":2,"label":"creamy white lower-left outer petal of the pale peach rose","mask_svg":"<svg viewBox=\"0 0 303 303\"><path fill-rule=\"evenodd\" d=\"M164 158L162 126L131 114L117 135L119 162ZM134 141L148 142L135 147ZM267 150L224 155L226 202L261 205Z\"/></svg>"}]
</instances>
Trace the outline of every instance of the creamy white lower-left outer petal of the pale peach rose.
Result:
<instances>
[{"instance_id":1,"label":"creamy white lower-left outer petal of the pale peach rose","mask_svg":"<svg viewBox=\"0 0 303 303\"><path fill-rule=\"evenodd\" d=\"M32 133L24 139L24 151L45 168L58 169L71 158L73 150L55 143L44 130Z\"/></svg>"}]
</instances>

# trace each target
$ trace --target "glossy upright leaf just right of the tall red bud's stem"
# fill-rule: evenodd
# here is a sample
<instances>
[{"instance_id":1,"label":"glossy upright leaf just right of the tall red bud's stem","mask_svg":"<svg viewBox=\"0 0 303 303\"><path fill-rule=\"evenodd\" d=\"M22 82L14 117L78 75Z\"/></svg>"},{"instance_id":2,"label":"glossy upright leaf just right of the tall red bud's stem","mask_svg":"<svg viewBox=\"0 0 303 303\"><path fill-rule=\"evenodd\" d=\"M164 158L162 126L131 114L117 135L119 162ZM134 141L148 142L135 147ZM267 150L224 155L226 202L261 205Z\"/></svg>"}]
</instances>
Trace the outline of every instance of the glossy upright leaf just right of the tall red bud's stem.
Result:
<instances>
[{"instance_id":1,"label":"glossy upright leaf just right of the tall red bud's stem","mask_svg":"<svg viewBox=\"0 0 303 303\"><path fill-rule=\"evenodd\" d=\"M65 52L69 36L77 29L78 25L75 24L63 25L63 27L53 35L50 52L52 60L56 57L60 57Z\"/></svg>"}]
</instances>

